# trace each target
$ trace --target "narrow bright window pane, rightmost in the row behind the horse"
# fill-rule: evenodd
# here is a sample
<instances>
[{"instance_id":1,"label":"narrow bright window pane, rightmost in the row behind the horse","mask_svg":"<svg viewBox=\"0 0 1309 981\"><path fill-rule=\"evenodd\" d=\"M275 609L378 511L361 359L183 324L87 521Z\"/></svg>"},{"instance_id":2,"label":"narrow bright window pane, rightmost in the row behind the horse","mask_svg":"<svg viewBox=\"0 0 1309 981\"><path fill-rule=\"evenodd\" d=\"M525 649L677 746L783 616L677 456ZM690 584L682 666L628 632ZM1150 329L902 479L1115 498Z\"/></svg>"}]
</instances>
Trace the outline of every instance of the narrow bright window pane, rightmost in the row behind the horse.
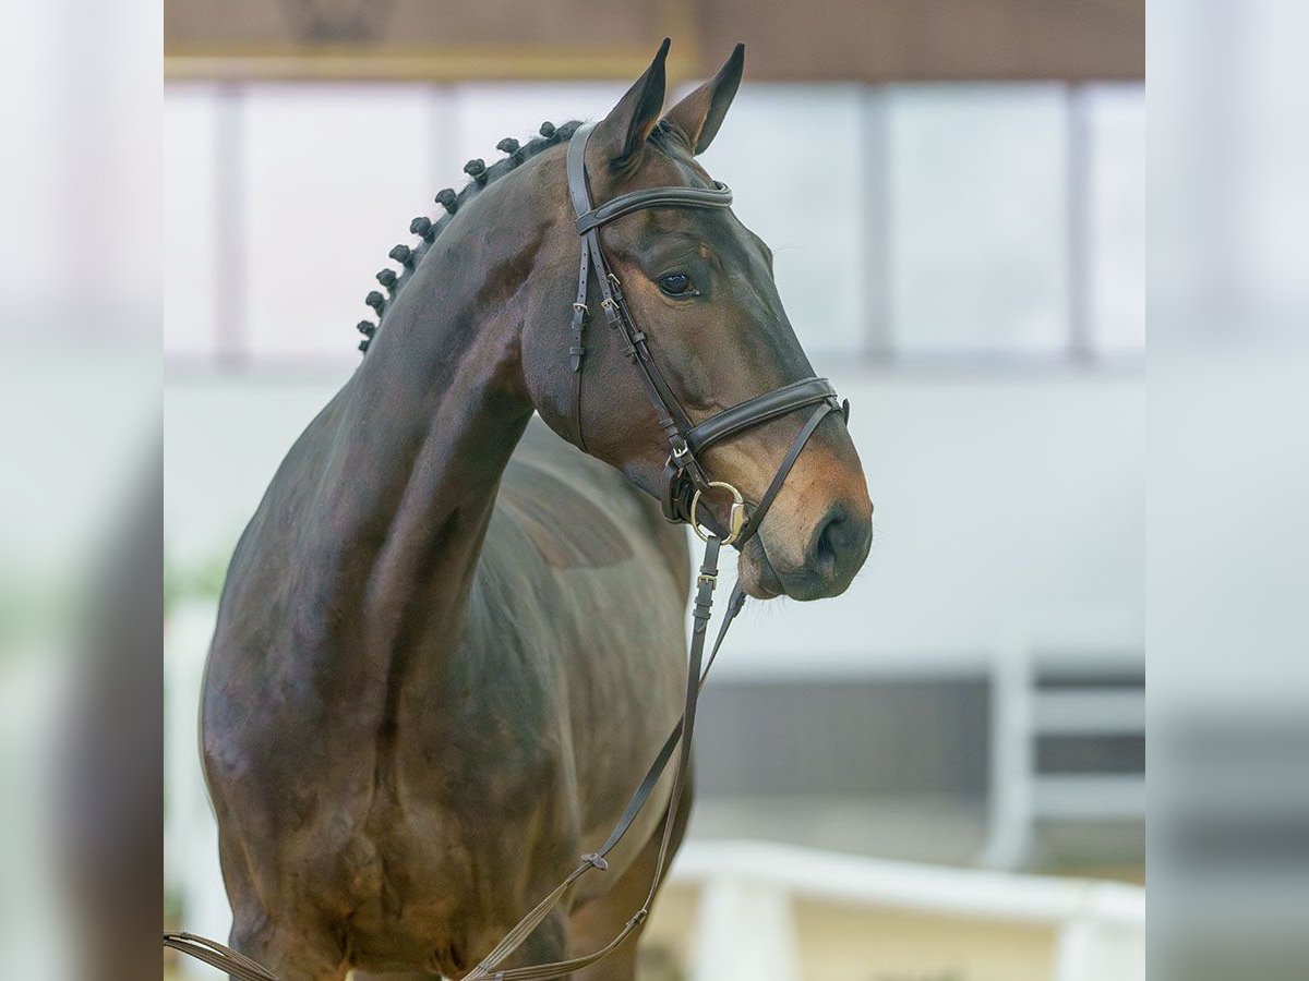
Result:
<instances>
[{"instance_id":1,"label":"narrow bright window pane, rightmost in the row behind the horse","mask_svg":"<svg viewBox=\"0 0 1309 981\"><path fill-rule=\"evenodd\" d=\"M1088 277L1092 343L1101 351L1145 347L1145 93L1139 85L1085 94L1088 127Z\"/></svg>"}]
</instances>

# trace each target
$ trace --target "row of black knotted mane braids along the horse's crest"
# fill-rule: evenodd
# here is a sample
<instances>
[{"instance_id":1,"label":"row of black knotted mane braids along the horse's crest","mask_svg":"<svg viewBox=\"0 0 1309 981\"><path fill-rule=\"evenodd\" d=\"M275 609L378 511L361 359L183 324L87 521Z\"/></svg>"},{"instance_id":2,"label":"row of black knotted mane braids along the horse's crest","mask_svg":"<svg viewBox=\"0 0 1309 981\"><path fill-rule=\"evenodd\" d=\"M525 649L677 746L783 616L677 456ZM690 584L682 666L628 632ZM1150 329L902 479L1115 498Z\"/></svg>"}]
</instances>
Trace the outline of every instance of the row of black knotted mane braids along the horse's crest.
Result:
<instances>
[{"instance_id":1,"label":"row of black knotted mane braids along the horse's crest","mask_svg":"<svg viewBox=\"0 0 1309 981\"><path fill-rule=\"evenodd\" d=\"M577 132L577 127L581 126L580 122L573 120L571 123L564 123L563 126L555 127L552 123L541 124L541 135L533 137L525 144L520 144L512 137L505 137L501 140L496 149L508 154L503 160L487 166L480 160L470 160L463 166L463 173L469 174L470 181L463 188L454 194L454 191L441 191L436 196L436 201L442 205L446 212L440 218L429 220L424 216L419 216L410 222L410 233L418 235L418 243L412 246L398 245L389 252L389 258L399 263L401 268L397 271L387 266L381 272L377 273L377 281L386 290L386 294L378 293L376 289L372 290L364 302L370 306L377 313L377 323L372 320L360 320L356 330L364 335L364 339L359 343L359 349L368 353L368 345L373 340L373 335L385 324L386 307L390 301L399 296L399 292L404 289L404 285L412 279L414 269L427 255L427 251L432 247L436 238L446 229L446 226L458 217L458 211L463 204L469 201L474 195L480 194L488 184L493 184L499 178L508 174L511 170L521 166L524 162L531 160L538 153L542 153L551 146L558 146L560 143L567 143L572 139L572 135Z\"/></svg>"}]
</instances>

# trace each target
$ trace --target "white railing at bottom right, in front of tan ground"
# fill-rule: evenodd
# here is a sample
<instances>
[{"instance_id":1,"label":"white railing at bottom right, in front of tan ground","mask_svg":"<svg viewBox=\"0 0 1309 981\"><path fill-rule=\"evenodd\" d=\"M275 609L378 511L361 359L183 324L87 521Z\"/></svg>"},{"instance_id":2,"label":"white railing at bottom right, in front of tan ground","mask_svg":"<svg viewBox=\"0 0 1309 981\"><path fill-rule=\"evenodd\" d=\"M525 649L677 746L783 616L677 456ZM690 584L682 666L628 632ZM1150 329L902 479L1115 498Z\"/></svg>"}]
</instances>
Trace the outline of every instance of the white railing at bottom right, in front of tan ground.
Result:
<instances>
[{"instance_id":1,"label":"white railing at bottom right, in front of tan ground","mask_svg":"<svg viewBox=\"0 0 1309 981\"><path fill-rule=\"evenodd\" d=\"M1051 981L1144 981L1145 891L891 862L762 841L692 841L672 880L700 895L692 981L800 978L795 903L1055 930Z\"/></svg>"}]
</instances>

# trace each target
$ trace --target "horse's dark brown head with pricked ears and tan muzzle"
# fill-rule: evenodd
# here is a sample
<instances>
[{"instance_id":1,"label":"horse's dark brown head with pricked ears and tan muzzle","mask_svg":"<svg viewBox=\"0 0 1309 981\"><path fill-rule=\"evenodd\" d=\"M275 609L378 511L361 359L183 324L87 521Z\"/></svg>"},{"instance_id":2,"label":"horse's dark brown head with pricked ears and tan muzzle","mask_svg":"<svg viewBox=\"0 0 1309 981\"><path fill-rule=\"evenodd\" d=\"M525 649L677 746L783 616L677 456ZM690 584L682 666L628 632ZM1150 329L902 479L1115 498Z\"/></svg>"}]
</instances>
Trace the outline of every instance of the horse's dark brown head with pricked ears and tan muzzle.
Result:
<instances>
[{"instance_id":1,"label":"horse's dark brown head with pricked ears and tan muzzle","mask_svg":"<svg viewBox=\"0 0 1309 981\"><path fill-rule=\"evenodd\" d=\"M715 186L696 154L717 133L736 94L744 48L738 46L715 78L661 116L666 51L668 42L589 133L585 169L594 205L643 188ZM559 247L543 250L547 268L537 269L545 288L522 335L528 385L556 432L660 496L669 442L623 331L606 327L598 315L594 280L602 273L597 269L588 298L580 412L573 408L573 373L563 351L581 242L564 190L563 156L556 160L558 166L539 178L538 196L554 201L551 235L558 234ZM692 425L813 375L778 296L772 254L730 209L656 204L605 224L598 234L635 327ZM698 453L699 463L757 504L809 416L798 408L720 439ZM716 494L702 511L708 508L725 525L729 502ZM842 593L868 555L872 510L842 413L830 412L742 549L746 590L796 599Z\"/></svg>"}]
</instances>

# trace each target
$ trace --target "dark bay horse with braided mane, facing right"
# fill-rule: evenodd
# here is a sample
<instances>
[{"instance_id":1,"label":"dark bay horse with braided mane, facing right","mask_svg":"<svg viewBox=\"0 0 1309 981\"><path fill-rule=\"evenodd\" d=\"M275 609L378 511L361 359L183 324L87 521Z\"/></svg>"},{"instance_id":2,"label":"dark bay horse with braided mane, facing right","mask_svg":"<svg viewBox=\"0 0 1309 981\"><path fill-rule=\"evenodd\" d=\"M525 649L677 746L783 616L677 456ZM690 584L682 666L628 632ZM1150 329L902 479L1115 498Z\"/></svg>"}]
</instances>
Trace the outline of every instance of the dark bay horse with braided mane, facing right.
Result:
<instances>
[{"instance_id":1,"label":"dark bay horse with braided mane, facing right","mask_svg":"<svg viewBox=\"0 0 1309 981\"><path fill-rule=\"evenodd\" d=\"M666 44L585 145L597 200L709 187L741 78L662 114ZM683 528L666 456L603 324L571 426L577 230L546 126L416 220L355 375L296 441L237 545L202 709L232 946L287 981L469 971L618 819L678 715ZM692 417L813 374L764 243L728 209L651 208L603 246ZM814 247L822 247L816 243ZM539 413L545 425L531 422ZM548 426L548 429L547 429ZM801 426L707 451L758 500ZM554 433L550 432L554 430ZM560 439L559 436L565 439ZM872 505L840 413L822 421L740 560L759 598L842 593ZM643 899L669 789L516 963L603 946ZM678 832L679 833L679 832ZM635 944L584 972L631 978Z\"/></svg>"}]
</instances>

